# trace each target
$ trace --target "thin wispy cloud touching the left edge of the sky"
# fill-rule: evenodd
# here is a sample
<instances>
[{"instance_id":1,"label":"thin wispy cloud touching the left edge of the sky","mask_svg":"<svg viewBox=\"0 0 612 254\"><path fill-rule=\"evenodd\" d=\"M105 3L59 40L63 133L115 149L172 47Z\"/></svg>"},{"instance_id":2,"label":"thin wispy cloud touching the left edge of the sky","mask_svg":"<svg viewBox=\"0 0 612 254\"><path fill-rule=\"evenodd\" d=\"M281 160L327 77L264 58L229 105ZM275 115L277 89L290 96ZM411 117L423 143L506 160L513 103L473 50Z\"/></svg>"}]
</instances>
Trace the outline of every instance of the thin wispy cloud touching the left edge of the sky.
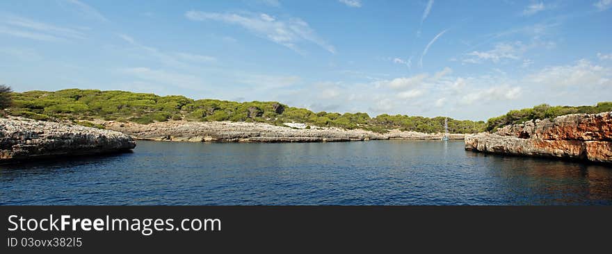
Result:
<instances>
[{"instance_id":1,"label":"thin wispy cloud touching the left edge of the sky","mask_svg":"<svg viewBox=\"0 0 612 254\"><path fill-rule=\"evenodd\" d=\"M2 25L4 24L4 25ZM72 28L54 26L37 22L24 17L6 15L1 17L0 33L23 37L31 40L61 41L72 39L85 39L85 34Z\"/></svg>"}]
</instances>

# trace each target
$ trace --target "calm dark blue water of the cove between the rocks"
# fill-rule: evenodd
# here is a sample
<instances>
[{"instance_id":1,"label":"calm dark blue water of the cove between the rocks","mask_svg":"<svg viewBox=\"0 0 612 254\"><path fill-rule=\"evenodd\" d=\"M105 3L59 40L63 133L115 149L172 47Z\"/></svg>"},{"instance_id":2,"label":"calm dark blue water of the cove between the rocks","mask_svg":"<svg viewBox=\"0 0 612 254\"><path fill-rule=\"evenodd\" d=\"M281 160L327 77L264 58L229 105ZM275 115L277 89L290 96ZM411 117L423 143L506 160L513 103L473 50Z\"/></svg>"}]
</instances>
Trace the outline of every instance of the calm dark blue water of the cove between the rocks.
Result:
<instances>
[{"instance_id":1,"label":"calm dark blue water of the cove between the rocks","mask_svg":"<svg viewBox=\"0 0 612 254\"><path fill-rule=\"evenodd\" d=\"M612 204L612 168L483 155L463 142L138 142L0 166L2 205Z\"/></svg>"}]
</instances>

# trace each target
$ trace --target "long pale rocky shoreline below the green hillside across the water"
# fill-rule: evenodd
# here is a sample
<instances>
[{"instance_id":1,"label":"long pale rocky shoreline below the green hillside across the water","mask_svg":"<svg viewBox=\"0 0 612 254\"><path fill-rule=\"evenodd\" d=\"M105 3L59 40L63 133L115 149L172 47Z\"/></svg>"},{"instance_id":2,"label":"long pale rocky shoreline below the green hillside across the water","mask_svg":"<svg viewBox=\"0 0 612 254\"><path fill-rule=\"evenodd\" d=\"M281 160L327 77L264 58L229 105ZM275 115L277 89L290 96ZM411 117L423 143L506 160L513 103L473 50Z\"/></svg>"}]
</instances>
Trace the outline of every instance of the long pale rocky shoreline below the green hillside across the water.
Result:
<instances>
[{"instance_id":1,"label":"long pale rocky shoreline below the green hillside across the water","mask_svg":"<svg viewBox=\"0 0 612 254\"><path fill-rule=\"evenodd\" d=\"M380 134L367 130L341 128L289 128L248 122L164 121L153 124L97 121L109 130L117 130L136 139L186 142L337 142L371 139L441 139L442 134L392 130ZM451 135L463 139L462 134Z\"/></svg>"}]
</instances>

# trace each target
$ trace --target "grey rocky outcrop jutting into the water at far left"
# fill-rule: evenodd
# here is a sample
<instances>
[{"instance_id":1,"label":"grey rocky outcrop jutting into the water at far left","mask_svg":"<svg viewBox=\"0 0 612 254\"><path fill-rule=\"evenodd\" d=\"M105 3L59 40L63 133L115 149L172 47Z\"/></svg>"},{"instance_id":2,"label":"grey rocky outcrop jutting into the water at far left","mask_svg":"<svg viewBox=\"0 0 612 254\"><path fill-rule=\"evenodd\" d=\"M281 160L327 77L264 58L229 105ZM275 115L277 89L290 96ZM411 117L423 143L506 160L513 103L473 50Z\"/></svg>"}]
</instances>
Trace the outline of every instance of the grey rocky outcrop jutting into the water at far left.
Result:
<instances>
[{"instance_id":1,"label":"grey rocky outcrop jutting into the water at far left","mask_svg":"<svg viewBox=\"0 0 612 254\"><path fill-rule=\"evenodd\" d=\"M0 162L127 151L135 146L129 135L113 130L19 117L0 119Z\"/></svg>"}]
</instances>

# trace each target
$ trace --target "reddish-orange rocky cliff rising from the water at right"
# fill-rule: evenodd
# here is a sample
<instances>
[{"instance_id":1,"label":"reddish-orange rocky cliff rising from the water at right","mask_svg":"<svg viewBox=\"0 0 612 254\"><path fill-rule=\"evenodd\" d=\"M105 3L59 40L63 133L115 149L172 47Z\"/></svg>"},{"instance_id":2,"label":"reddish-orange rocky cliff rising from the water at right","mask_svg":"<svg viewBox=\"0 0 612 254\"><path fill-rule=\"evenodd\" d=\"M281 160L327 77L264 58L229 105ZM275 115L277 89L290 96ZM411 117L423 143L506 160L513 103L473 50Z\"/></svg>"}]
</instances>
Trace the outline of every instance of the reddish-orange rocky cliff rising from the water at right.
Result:
<instances>
[{"instance_id":1,"label":"reddish-orange rocky cliff rising from the water at right","mask_svg":"<svg viewBox=\"0 0 612 254\"><path fill-rule=\"evenodd\" d=\"M612 163L612 112L574 114L465 137L465 149Z\"/></svg>"}]
</instances>

